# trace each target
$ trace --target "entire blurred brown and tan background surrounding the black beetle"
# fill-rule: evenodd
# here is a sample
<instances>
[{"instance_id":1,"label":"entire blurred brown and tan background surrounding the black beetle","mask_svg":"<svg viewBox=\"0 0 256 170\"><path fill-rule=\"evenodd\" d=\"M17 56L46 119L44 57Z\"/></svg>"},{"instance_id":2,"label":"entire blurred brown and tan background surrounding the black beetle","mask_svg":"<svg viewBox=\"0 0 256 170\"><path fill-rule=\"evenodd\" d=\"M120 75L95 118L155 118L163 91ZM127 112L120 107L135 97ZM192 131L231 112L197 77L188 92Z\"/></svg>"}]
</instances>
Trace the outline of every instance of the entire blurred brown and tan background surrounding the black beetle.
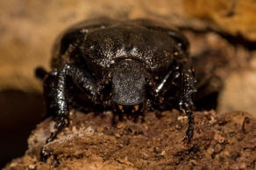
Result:
<instances>
[{"instance_id":1,"label":"entire blurred brown and tan background surrounding the black beetle","mask_svg":"<svg viewBox=\"0 0 256 170\"><path fill-rule=\"evenodd\" d=\"M217 83L213 90L217 92L217 111L242 110L256 115L255 1L1 1L0 167L25 152L28 134L44 112L34 68L43 65L50 69L53 41L62 31L86 18L102 16L151 18L181 27L191 43L191 56L210 56L197 65L210 62L209 67L214 67L221 79L222 85ZM219 62L220 58L224 62ZM214 89L216 79L210 81Z\"/></svg>"}]
</instances>

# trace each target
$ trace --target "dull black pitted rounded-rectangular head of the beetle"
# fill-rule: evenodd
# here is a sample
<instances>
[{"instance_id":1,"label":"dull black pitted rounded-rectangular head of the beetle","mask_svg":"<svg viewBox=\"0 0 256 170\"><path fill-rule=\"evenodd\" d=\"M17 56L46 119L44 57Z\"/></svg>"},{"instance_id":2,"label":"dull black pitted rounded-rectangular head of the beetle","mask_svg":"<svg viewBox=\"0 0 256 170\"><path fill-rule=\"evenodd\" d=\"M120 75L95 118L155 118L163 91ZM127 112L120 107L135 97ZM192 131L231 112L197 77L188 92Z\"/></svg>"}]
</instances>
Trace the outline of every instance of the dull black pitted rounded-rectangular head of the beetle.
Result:
<instances>
[{"instance_id":1,"label":"dull black pitted rounded-rectangular head of the beetle","mask_svg":"<svg viewBox=\"0 0 256 170\"><path fill-rule=\"evenodd\" d=\"M118 105L138 105L145 98L145 75L136 60L125 59L114 66L112 100Z\"/></svg>"}]
</instances>

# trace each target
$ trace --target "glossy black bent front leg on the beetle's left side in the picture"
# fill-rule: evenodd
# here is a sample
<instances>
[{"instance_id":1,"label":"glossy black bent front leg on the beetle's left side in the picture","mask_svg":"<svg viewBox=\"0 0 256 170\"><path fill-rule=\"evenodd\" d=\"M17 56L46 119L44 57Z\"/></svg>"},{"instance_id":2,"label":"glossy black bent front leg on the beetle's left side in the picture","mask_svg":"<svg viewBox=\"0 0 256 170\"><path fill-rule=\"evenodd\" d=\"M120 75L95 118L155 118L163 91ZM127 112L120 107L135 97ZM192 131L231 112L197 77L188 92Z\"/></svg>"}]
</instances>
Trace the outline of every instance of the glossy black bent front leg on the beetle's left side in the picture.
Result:
<instances>
[{"instance_id":1,"label":"glossy black bent front leg on the beetle's left side in the picture","mask_svg":"<svg viewBox=\"0 0 256 170\"><path fill-rule=\"evenodd\" d=\"M53 141L61 129L68 124L69 118L69 86L75 81L82 89L89 92L91 99L96 99L97 88L89 72L75 64L66 64L60 71L51 71L44 81L44 93L47 112L55 115L55 131L46 139L46 144ZM48 154L42 149L41 160L46 160Z\"/></svg>"}]
</instances>

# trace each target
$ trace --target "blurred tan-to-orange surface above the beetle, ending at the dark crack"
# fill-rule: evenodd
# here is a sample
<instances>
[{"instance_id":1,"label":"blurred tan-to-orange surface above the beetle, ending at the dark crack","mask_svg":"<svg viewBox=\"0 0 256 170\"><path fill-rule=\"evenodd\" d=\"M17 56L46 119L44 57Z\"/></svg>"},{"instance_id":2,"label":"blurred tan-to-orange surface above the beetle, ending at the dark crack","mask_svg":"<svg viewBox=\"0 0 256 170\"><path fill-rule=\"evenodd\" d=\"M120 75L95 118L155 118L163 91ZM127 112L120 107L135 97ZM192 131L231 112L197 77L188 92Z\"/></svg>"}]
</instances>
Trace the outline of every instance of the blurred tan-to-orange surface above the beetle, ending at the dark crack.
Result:
<instances>
[{"instance_id":1,"label":"blurred tan-to-orange surface above the beetle, ending at the dark crack","mask_svg":"<svg viewBox=\"0 0 256 170\"><path fill-rule=\"evenodd\" d=\"M250 0L1 1L0 90L40 91L34 68L48 68L55 38L70 25L91 17L160 19L188 29L210 28L255 41L255 8L256 3Z\"/></svg>"}]
</instances>

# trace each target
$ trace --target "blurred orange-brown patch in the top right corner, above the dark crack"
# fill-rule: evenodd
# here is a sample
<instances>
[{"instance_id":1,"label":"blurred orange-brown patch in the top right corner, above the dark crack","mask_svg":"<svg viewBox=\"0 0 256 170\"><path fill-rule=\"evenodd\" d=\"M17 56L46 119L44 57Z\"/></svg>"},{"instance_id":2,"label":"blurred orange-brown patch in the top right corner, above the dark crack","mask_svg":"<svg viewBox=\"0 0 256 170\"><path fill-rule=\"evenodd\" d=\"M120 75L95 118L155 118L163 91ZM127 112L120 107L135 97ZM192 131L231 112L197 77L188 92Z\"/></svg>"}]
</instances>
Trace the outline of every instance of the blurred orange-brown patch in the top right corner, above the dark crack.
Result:
<instances>
[{"instance_id":1,"label":"blurred orange-brown patch in the top right corner, above the dark crack","mask_svg":"<svg viewBox=\"0 0 256 170\"><path fill-rule=\"evenodd\" d=\"M256 41L256 3L252 0L184 0L189 17L208 21L214 30Z\"/></svg>"}]
</instances>

